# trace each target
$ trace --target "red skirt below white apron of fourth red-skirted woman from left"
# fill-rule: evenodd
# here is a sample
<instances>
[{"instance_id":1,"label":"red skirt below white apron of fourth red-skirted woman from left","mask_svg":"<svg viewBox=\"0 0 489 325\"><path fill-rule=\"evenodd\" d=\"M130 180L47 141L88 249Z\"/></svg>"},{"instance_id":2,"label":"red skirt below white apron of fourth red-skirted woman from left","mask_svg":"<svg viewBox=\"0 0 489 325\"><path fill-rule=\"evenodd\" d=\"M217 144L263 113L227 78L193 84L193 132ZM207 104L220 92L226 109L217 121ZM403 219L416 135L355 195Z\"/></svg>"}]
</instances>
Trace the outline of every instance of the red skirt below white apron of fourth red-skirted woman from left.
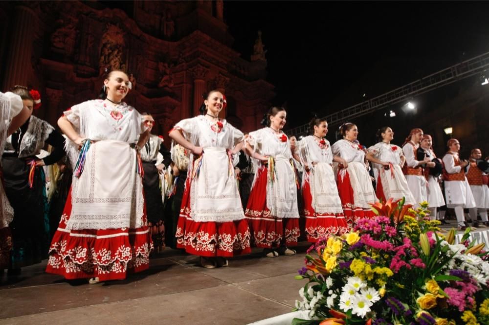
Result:
<instances>
[{"instance_id":1,"label":"red skirt below white apron of fourth red-skirted woman from left","mask_svg":"<svg viewBox=\"0 0 489 325\"><path fill-rule=\"evenodd\" d=\"M348 231L345 216L342 213L316 213L312 207L311 185L304 181L302 186L304 215L306 216L306 237L310 243L333 235L342 235Z\"/></svg>"}]
</instances>

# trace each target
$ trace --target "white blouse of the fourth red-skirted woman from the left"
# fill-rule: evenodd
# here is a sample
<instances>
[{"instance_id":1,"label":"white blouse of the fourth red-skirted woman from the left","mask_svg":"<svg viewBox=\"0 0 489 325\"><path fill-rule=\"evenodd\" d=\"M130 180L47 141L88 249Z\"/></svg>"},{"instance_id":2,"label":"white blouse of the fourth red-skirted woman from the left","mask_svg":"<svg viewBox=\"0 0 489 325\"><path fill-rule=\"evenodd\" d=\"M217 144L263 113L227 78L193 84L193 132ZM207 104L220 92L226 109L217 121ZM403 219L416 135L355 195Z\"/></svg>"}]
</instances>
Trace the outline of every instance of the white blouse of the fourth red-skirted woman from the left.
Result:
<instances>
[{"instance_id":1,"label":"white blouse of the fourth red-skirted woman from the left","mask_svg":"<svg viewBox=\"0 0 489 325\"><path fill-rule=\"evenodd\" d=\"M296 153L301 161L310 165L311 163L333 163L333 151L330 142L326 139L321 140L314 136L307 136L297 142Z\"/></svg>"}]
</instances>

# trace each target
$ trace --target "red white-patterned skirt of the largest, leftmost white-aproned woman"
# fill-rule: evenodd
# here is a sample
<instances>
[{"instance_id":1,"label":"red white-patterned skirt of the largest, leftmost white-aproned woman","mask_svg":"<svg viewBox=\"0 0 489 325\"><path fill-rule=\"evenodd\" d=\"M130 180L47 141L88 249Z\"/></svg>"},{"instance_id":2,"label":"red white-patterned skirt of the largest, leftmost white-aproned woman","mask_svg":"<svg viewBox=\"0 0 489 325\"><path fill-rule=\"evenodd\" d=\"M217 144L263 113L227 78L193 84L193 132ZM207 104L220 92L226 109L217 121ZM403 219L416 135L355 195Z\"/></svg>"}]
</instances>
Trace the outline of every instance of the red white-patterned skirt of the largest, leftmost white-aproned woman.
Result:
<instances>
[{"instance_id":1,"label":"red white-patterned skirt of the largest, leftmost white-aproned woman","mask_svg":"<svg viewBox=\"0 0 489 325\"><path fill-rule=\"evenodd\" d=\"M49 247L47 273L66 279L98 277L122 280L128 272L149 267L153 243L147 226L137 229L66 229L71 215L71 189L61 221ZM146 207L143 218L146 220Z\"/></svg>"}]
</instances>

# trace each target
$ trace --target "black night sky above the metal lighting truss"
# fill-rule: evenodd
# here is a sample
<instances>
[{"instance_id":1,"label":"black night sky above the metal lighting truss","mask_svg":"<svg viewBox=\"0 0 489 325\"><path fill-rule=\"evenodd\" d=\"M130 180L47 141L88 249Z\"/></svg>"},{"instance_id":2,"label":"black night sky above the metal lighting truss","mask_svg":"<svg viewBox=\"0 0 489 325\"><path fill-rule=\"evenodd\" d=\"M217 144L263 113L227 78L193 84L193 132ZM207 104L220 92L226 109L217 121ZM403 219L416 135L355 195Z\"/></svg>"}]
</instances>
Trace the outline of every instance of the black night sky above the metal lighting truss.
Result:
<instances>
[{"instance_id":1,"label":"black night sky above the metal lighting truss","mask_svg":"<svg viewBox=\"0 0 489 325\"><path fill-rule=\"evenodd\" d=\"M290 127L489 51L488 2L225 1L224 17L247 60L262 30Z\"/></svg>"}]
</instances>

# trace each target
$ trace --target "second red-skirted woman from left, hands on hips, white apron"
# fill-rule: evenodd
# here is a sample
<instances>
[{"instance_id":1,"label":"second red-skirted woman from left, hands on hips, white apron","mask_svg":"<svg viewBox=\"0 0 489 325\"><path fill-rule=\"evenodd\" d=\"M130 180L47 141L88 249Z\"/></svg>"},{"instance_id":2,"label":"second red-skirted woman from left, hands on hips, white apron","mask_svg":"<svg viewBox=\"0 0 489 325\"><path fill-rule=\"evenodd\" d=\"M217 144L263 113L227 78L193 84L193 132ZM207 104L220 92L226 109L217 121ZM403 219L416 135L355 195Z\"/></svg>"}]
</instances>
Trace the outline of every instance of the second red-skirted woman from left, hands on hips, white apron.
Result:
<instances>
[{"instance_id":1,"label":"second red-skirted woman from left, hands on hips, white apron","mask_svg":"<svg viewBox=\"0 0 489 325\"><path fill-rule=\"evenodd\" d=\"M251 251L232 154L243 133L219 118L220 91L209 92L203 115L178 122L170 137L191 151L177 226L177 246L200 256L203 267L227 266L226 258Z\"/></svg>"}]
</instances>

